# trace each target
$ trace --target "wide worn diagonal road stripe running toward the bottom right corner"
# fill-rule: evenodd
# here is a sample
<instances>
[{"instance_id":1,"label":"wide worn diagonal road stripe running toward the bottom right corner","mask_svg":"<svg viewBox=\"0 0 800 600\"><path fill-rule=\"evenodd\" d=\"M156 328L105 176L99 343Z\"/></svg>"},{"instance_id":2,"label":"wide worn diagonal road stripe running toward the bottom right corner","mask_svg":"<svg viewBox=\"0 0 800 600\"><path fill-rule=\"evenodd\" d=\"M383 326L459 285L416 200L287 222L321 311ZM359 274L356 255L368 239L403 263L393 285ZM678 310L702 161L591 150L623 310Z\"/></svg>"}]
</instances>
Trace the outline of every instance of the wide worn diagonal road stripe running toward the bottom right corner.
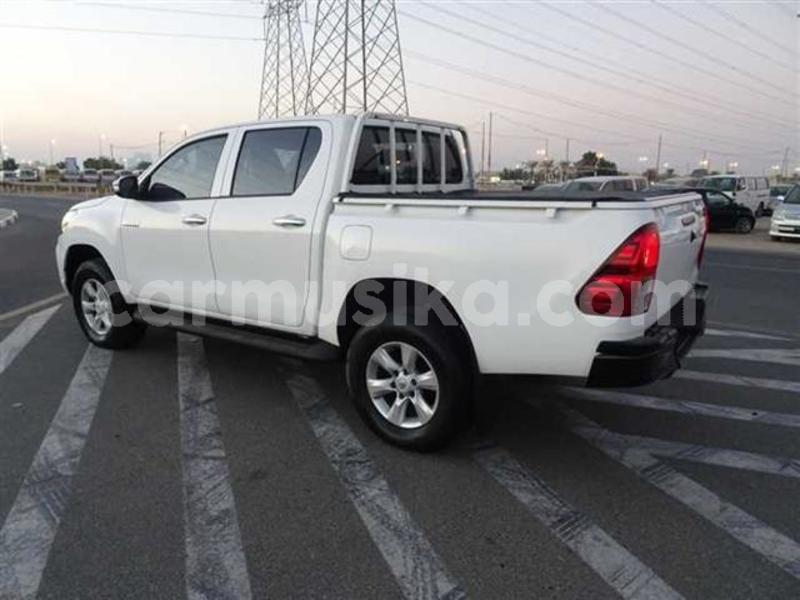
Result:
<instances>
[{"instance_id":1,"label":"wide worn diagonal road stripe running toward the bottom right corner","mask_svg":"<svg viewBox=\"0 0 800 600\"><path fill-rule=\"evenodd\" d=\"M619 439L624 436L603 429L566 406L560 408L570 421L570 431L791 576L800 579L800 544L793 539L679 473L655 458L647 449L625 444L624 440Z\"/></svg>"}]
</instances>

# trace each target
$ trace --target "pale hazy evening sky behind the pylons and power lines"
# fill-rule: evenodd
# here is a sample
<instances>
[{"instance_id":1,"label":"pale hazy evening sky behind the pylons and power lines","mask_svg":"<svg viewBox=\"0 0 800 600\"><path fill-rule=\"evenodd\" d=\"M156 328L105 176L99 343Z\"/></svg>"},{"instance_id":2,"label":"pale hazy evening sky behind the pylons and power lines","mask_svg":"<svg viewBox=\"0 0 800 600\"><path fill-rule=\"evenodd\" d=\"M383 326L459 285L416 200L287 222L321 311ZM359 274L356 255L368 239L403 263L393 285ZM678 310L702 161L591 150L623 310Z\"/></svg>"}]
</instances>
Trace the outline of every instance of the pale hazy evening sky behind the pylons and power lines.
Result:
<instances>
[{"instance_id":1,"label":"pale hazy evening sky behind the pylons and power lines","mask_svg":"<svg viewBox=\"0 0 800 600\"><path fill-rule=\"evenodd\" d=\"M770 174L784 155L800 168L797 2L397 6L410 113L464 124L476 154L493 113L494 167L545 149L564 160L569 139L571 160L594 150L641 172L661 136L662 170L706 157ZM18 160L112 144L132 157L156 154L159 132L166 147L184 128L254 120L263 11L252 0L0 0L2 144ZM304 25L308 46L312 33Z\"/></svg>"}]
</instances>

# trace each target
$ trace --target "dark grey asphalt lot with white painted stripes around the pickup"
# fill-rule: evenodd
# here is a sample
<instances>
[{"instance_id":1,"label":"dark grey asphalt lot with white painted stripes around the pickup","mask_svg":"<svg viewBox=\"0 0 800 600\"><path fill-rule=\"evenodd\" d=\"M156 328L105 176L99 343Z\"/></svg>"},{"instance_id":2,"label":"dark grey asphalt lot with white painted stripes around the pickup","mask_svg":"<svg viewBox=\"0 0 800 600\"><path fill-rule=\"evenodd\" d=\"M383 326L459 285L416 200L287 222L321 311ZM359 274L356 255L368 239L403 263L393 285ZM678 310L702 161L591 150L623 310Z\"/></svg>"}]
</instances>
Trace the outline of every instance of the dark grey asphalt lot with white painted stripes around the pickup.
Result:
<instances>
[{"instance_id":1,"label":"dark grey asphalt lot with white painted stripes around the pickup","mask_svg":"<svg viewBox=\"0 0 800 600\"><path fill-rule=\"evenodd\" d=\"M800 597L800 244L712 238L679 377L487 380L446 451L341 365L151 330L89 348L69 201L0 198L0 598Z\"/></svg>"}]
</instances>

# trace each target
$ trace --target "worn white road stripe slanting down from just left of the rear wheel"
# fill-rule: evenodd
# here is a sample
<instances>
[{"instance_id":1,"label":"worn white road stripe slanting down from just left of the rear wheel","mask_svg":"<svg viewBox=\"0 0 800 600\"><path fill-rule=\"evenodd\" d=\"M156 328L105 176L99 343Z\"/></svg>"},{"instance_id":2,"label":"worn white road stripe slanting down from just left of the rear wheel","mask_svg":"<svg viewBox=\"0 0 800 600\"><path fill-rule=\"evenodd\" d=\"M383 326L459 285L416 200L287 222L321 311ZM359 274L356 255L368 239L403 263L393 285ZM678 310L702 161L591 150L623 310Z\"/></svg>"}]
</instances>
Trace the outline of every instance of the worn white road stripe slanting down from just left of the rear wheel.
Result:
<instances>
[{"instance_id":1,"label":"worn white road stripe slanting down from just left of the rear wheel","mask_svg":"<svg viewBox=\"0 0 800 600\"><path fill-rule=\"evenodd\" d=\"M464 598L432 544L317 382L293 374L286 383L403 595Z\"/></svg>"}]
</instances>

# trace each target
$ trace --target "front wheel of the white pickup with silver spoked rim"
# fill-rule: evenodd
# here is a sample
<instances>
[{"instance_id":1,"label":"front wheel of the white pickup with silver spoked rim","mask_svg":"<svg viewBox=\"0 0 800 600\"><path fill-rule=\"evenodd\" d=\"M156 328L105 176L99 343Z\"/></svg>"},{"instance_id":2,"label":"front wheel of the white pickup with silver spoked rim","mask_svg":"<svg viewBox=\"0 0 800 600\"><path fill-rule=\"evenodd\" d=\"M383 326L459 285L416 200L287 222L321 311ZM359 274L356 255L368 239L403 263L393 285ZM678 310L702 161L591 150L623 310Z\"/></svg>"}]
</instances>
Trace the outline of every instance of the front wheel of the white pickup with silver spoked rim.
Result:
<instances>
[{"instance_id":1,"label":"front wheel of the white pickup with silver spoked rim","mask_svg":"<svg viewBox=\"0 0 800 600\"><path fill-rule=\"evenodd\" d=\"M133 320L114 276L102 260L81 264L70 289L78 323L95 346L121 350L142 339L145 325Z\"/></svg>"}]
</instances>

